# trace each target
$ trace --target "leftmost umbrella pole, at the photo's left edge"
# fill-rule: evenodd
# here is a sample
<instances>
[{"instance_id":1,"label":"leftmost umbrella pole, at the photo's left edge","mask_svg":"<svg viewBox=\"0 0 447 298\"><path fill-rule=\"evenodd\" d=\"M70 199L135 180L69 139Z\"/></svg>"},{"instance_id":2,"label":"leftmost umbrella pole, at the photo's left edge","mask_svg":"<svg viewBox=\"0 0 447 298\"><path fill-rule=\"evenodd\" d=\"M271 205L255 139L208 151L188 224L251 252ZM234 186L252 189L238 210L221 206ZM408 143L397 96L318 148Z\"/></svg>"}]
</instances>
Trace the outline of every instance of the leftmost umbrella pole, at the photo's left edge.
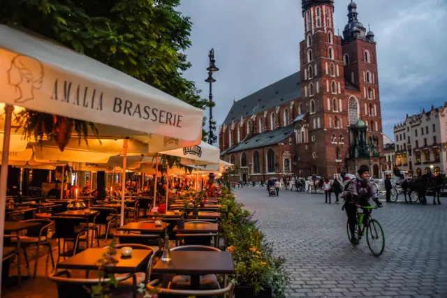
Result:
<instances>
[{"instance_id":1,"label":"leftmost umbrella pole, at the photo's left edge","mask_svg":"<svg viewBox=\"0 0 447 298\"><path fill-rule=\"evenodd\" d=\"M6 184L8 183L8 158L9 158L9 140L11 133L11 118L14 106L5 105L5 131L3 136L3 154L1 156L0 172L0 255L3 255L3 235L5 234L5 211L6 211ZM0 266L1 276L1 266ZM1 297L1 278L0 278L0 297Z\"/></svg>"}]
</instances>

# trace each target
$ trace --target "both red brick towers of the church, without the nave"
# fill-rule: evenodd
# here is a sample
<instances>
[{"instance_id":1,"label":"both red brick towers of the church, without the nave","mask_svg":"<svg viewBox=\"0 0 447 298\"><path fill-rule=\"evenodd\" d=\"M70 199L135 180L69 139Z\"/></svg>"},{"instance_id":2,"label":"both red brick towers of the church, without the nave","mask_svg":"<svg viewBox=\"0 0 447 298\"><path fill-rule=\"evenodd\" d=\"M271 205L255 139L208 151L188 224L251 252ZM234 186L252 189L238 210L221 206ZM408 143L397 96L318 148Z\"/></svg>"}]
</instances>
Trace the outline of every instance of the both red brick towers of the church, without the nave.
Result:
<instances>
[{"instance_id":1,"label":"both red brick towers of the church, without the nave","mask_svg":"<svg viewBox=\"0 0 447 298\"><path fill-rule=\"evenodd\" d=\"M334 0L302 0L302 117L295 126L297 167L306 169L302 174L309 174L310 169L310 174L328 176L345 166L355 172L363 164L374 167L376 174L381 171L379 156L383 155L383 146L374 33L366 33L358 22L356 3L351 1L348 10L349 21L342 38L335 35ZM360 154L367 160L361 161L351 129L360 118L368 126L367 152ZM370 160L375 157L379 159Z\"/></svg>"}]
</instances>

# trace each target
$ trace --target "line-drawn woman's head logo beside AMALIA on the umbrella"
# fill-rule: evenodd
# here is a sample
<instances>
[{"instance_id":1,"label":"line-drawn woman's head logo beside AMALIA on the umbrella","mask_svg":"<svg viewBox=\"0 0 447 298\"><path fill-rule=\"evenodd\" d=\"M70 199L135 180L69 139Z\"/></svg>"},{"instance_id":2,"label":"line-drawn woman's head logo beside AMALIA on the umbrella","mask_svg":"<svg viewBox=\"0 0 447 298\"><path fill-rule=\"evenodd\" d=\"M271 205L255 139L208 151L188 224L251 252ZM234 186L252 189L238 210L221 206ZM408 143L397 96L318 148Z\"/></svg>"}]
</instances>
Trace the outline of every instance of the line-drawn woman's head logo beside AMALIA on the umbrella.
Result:
<instances>
[{"instance_id":1,"label":"line-drawn woman's head logo beside AMALIA on the umbrella","mask_svg":"<svg viewBox=\"0 0 447 298\"><path fill-rule=\"evenodd\" d=\"M34 99L34 89L41 89L43 66L31 57L17 55L8 70L8 82L15 87L15 103L25 103Z\"/></svg>"}]
</instances>

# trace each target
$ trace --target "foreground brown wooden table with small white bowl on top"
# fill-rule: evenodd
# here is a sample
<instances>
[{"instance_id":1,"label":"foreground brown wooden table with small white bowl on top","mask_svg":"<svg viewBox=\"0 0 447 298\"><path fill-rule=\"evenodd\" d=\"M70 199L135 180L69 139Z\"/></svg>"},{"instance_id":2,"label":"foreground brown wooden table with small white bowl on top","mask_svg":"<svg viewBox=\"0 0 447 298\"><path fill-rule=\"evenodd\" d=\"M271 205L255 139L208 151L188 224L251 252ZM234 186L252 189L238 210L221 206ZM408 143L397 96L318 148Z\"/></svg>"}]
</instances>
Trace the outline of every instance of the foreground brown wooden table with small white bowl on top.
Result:
<instances>
[{"instance_id":1,"label":"foreground brown wooden table with small white bowl on top","mask_svg":"<svg viewBox=\"0 0 447 298\"><path fill-rule=\"evenodd\" d=\"M58 269L79 269L79 270L97 270L96 262L102 258L105 248L88 248L73 257L60 262ZM110 267L108 271L113 273L133 273L141 270L142 266L147 265L152 251L147 249L134 249L131 258L122 258L119 250L117 251L117 264Z\"/></svg>"}]
</instances>

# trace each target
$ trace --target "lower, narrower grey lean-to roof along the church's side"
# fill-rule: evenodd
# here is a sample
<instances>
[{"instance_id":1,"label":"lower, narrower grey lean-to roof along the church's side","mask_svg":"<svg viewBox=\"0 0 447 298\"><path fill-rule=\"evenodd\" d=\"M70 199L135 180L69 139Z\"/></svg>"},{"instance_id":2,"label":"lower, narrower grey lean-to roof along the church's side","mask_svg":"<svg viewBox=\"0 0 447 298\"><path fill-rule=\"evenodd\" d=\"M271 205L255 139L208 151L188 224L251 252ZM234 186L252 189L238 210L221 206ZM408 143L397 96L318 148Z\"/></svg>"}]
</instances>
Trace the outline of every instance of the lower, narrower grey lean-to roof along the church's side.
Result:
<instances>
[{"instance_id":1,"label":"lower, narrower grey lean-to roof along the church's side","mask_svg":"<svg viewBox=\"0 0 447 298\"><path fill-rule=\"evenodd\" d=\"M281 128L277 128L274 131L268 131L265 133L260 133L258 135L254 135L253 137L245 140L244 142L240 142L237 146L230 147L226 151L221 153L221 156L224 154L254 149L259 147L265 147L272 144L278 144L283 141L287 137L290 137L295 132L295 127L293 125L284 126Z\"/></svg>"}]
</instances>

